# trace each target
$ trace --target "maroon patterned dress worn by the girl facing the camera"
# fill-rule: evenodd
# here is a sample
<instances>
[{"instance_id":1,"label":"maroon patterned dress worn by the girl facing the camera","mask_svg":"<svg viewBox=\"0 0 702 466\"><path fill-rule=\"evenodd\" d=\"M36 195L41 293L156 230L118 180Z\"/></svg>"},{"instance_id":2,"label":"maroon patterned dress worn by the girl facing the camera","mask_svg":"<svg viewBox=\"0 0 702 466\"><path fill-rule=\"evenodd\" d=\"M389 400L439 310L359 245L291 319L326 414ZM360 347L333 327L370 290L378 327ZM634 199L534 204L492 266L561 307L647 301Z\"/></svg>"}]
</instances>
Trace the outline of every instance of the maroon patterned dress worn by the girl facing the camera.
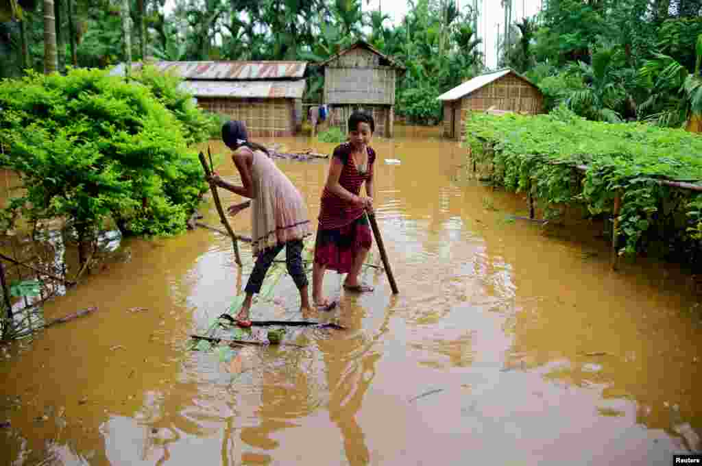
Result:
<instances>
[{"instance_id":1,"label":"maroon patterned dress worn by the girl facing the camera","mask_svg":"<svg viewBox=\"0 0 702 466\"><path fill-rule=\"evenodd\" d=\"M334 149L332 157L344 165L339 184L358 196L363 182L373 175L376 152L368 148L368 168L364 172L357 169L352 152L352 146L345 142ZM356 251L368 249L372 244L373 234L365 208L351 204L324 187L317 240L314 243L314 262L346 274L351 271Z\"/></svg>"}]
</instances>

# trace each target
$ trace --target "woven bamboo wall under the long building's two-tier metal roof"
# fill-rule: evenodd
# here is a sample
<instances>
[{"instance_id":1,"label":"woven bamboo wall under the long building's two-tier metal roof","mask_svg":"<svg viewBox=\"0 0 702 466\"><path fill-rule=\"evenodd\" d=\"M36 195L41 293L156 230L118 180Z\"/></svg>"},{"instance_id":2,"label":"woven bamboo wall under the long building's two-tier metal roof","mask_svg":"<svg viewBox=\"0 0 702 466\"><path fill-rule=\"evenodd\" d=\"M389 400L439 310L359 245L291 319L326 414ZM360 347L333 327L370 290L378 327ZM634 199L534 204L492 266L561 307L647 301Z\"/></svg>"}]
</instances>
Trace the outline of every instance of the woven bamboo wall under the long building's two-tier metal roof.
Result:
<instances>
[{"instance_id":1,"label":"woven bamboo wall under the long building's two-tier metal roof","mask_svg":"<svg viewBox=\"0 0 702 466\"><path fill-rule=\"evenodd\" d=\"M209 112L246 122L251 138L295 135L294 99L198 98Z\"/></svg>"}]
</instances>

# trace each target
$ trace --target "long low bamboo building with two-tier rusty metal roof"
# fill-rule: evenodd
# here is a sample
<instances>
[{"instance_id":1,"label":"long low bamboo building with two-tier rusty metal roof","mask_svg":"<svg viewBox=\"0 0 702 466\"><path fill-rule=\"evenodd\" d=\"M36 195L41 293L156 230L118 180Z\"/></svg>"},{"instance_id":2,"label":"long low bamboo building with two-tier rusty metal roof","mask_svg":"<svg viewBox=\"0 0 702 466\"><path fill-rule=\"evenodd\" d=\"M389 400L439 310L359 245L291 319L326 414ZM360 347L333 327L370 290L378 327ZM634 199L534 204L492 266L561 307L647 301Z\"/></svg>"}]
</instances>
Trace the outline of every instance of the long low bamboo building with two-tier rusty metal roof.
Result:
<instances>
[{"instance_id":1,"label":"long low bamboo building with two-tier rusty metal roof","mask_svg":"<svg viewBox=\"0 0 702 466\"><path fill-rule=\"evenodd\" d=\"M251 137L291 136L300 126L307 62L152 62L183 78L209 112L246 122ZM135 69L140 63L133 65ZM111 74L124 75L124 65Z\"/></svg>"}]
</instances>

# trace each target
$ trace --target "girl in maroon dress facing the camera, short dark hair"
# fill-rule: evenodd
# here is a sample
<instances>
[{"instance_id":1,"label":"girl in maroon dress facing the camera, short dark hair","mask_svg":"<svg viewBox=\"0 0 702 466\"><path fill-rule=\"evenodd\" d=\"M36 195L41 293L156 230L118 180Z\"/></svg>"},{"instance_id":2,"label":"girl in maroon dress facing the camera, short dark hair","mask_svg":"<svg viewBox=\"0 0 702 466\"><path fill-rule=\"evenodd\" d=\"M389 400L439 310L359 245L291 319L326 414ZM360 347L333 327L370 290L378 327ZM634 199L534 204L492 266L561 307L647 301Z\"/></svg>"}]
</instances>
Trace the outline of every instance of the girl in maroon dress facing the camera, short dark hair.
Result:
<instances>
[{"instance_id":1,"label":"girl in maroon dress facing the camera, short dark hair","mask_svg":"<svg viewBox=\"0 0 702 466\"><path fill-rule=\"evenodd\" d=\"M344 288L348 291L373 291L371 286L360 283L358 276L373 244L366 212L373 212L376 152L369 143L376 124L373 116L354 112L348 129L348 141L334 149L322 193L312 269L312 300L318 306L329 305L322 296L326 269L347 274ZM366 196L360 196L364 182Z\"/></svg>"}]
</instances>

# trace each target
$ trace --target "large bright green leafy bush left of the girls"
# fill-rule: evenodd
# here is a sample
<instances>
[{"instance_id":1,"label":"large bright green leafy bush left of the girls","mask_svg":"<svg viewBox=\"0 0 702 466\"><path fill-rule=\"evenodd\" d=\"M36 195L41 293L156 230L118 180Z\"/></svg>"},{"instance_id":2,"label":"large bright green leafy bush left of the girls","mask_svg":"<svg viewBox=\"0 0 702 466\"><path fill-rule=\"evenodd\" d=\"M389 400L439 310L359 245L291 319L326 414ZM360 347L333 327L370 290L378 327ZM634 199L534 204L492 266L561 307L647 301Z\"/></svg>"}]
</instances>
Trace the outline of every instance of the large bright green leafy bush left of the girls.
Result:
<instances>
[{"instance_id":1,"label":"large bright green leafy bush left of the girls","mask_svg":"<svg viewBox=\"0 0 702 466\"><path fill-rule=\"evenodd\" d=\"M146 74L146 76L149 76ZM64 217L86 232L112 218L123 234L175 234L206 191L187 139L192 112L168 85L127 84L96 69L0 81L0 166L25 192L0 220ZM164 91L159 101L150 89ZM171 102L178 114L161 102Z\"/></svg>"}]
</instances>

